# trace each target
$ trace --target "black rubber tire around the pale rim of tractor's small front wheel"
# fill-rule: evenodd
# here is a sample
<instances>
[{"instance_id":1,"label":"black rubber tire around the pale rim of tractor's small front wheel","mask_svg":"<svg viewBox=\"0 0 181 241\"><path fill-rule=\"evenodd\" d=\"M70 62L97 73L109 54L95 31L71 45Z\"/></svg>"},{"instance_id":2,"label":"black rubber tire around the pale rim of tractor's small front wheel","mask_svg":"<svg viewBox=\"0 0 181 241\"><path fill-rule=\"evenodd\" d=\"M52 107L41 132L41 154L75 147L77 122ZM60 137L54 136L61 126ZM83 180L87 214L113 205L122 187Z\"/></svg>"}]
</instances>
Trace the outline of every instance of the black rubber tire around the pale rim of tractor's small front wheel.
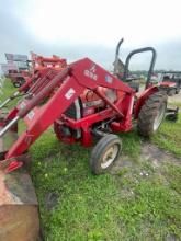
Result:
<instances>
[{"instance_id":1,"label":"black rubber tire around the pale rim of tractor's small front wheel","mask_svg":"<svg viewBox=\"0 0 181 241\"><path fill-rule=\"evenodd\" d=\"M117 152L113 161L109 164L106 168L102 168L102 161L103 161L103 156L104 153L111 148L111 146L117 146ZM114 162L117 160L120 157L122 150L122 141L121 139L113 134L109 134L104 137L102 137L98 144L94 146L92 153L91 153L91 159L90 159L90 168L93 174L102 174L110 170L110 168L114 164Z\"/></svg>"}]
</instances>

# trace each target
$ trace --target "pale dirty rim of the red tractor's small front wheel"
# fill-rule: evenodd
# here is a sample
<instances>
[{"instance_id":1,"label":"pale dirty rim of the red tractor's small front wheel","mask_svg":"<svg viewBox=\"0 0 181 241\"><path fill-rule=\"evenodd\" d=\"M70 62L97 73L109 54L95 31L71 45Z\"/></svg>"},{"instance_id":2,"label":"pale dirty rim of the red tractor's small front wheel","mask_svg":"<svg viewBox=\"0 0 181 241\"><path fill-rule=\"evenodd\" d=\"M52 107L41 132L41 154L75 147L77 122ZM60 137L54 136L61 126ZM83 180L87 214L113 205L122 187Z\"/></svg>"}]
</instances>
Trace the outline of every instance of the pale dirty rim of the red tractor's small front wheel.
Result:
<instances>
[{"instance_id":1,"label":"pale dirty rim of the red tractor's small front wheel","mask_svg":"<svg viewBox=\"0 0 181 241\"><path fill-rule=\"evenodd\" d=\"M102 157L101 168L106 169L111 165L111 163L115 160L118 153L118 146L114 144L109 149L106 149L105 153Z\"/></svg>"}]
</instances>

